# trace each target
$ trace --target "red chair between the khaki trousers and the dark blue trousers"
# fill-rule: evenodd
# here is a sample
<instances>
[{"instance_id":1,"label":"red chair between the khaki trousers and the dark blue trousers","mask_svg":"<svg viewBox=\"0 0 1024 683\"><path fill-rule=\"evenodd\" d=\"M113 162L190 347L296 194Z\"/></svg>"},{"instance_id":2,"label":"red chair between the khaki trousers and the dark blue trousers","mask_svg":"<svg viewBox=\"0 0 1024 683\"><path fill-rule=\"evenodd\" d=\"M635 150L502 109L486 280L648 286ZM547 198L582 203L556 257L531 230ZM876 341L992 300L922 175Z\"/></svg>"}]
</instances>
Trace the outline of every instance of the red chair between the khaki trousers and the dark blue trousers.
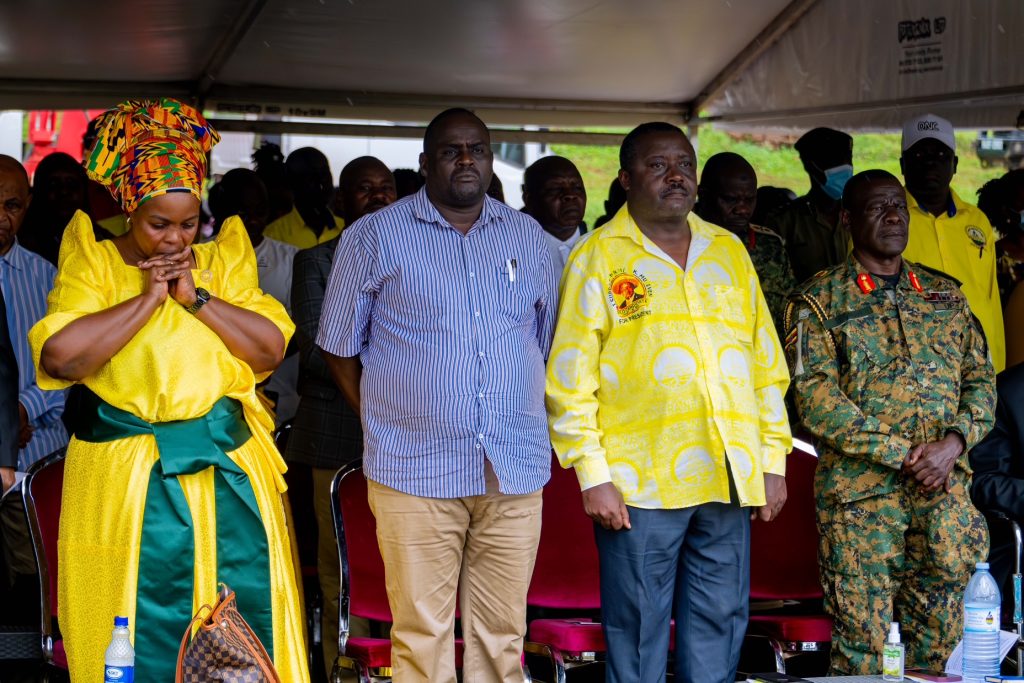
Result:
<instances>
[{"instance_id":1,"label":"red chair between the khaki trousers and the dark blue trousers","mask_svg":"<svg viewBox=\"0 0 1024 683\"><path fill-rule=\"evenodd\" d=\"M543 496L541 544L526 603L547 609L597 610L601 590L594 522L583 511L575 472L562 468L554 457ZM672 629L670 647L676 640L675 625ZM567 669L592 664L607 647L600 622L575 617L534 620L524 649L548 657L555 683L565 683Z\"/></svg>"}]
</instances>

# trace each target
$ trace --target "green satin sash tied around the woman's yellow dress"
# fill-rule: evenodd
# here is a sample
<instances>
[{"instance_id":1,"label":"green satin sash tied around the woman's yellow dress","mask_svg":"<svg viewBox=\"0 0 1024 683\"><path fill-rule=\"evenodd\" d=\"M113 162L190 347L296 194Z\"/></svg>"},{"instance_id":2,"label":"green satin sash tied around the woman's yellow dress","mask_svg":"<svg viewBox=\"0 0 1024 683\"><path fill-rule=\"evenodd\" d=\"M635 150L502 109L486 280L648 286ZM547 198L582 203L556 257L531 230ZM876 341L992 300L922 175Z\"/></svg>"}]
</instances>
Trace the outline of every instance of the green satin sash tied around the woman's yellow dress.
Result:
<instances>
[{"instance_id":1,"label":"green satin sash tied around the woman's yellow dress","mask_svg":"<svg viewBox=\"0 0 1024 683\"><path fill-rule=\"evenodd\" d=\"M210 467L214 468L217 580L236 591L239 611L273 657L266 530L249 477L225 455L252 436L242 404L225 396L202 417L150 424L91 391L86 394L75 436L104 443L153 434L160 454L150 473L142 515L135 680L174 680L178 644L193 617L196 555L191 514L177 476Z\"/></svg>"}]
</instances>

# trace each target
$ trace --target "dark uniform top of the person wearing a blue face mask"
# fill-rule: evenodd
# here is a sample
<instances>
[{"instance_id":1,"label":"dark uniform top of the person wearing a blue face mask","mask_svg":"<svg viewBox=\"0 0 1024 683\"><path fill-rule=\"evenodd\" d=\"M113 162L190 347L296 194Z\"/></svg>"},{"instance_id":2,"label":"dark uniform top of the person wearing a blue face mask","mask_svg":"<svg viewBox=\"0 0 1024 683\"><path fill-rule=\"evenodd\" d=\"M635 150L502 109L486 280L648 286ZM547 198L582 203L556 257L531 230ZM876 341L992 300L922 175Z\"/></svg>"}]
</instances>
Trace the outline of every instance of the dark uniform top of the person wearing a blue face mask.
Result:
<instances>
[{"instance_id":1,"label":"dark uniform top of the person wearing a blue face mask","mask_svg":"<svg viewBox=\"0 0 1024 683\"><path fill-rule=\"evenodd\" d=\"M786 204L766 222L785 242L797 283L842 263L850 252L850 231L840 222L831 225L806 195Z\"/></svg>"}]
</instances>

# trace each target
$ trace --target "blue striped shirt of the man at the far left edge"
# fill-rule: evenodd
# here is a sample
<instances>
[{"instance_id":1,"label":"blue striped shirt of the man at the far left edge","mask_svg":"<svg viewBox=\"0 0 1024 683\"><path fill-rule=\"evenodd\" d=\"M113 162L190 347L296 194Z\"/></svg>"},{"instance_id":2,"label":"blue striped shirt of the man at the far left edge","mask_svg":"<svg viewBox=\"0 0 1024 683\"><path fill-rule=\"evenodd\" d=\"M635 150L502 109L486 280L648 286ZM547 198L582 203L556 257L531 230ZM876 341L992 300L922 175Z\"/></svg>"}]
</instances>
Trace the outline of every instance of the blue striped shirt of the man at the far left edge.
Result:
<instances>
[{"instance_id":1,"label":"blue striped shirt of the man at the far left edge","mask_svg":"<svg viewBox=\"0 0 1024 683\"><path fill-rule=\"evenodd\" d=\"M37 460L68 445L63 414L65 392L43 391L36 384L36 364L29 346L29 330L46 314L46 297L53 289L57 270L38 254L14 242L0 256L0 290L7 304L7 328L17 359L18 401L25 405L29 423L35 427L32 440L20 450L18 469L26 470Z\"/></svg>"}]
</instances>

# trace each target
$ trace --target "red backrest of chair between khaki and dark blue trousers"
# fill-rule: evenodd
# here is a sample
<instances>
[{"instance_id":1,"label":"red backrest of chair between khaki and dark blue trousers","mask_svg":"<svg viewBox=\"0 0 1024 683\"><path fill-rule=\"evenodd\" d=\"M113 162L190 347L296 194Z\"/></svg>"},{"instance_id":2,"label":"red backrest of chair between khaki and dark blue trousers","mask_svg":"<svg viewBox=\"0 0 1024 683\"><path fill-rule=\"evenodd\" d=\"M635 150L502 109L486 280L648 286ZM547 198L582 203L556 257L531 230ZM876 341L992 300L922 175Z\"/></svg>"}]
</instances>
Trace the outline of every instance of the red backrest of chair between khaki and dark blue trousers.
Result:
<instances>
[{"instance_id":1,"label":"red backrest of chair between khaki and dark blue trousers","mask_svg":"<svg viewBox=\"0 0 1024 683\"><path fill-rule=\"evenodd\" d=\"M526 603L534 607L597 609L600 573L594 522L583 511L575 471L552 457L551 479L544 487L541 544Z\"/></svg>"}]
</instances>

